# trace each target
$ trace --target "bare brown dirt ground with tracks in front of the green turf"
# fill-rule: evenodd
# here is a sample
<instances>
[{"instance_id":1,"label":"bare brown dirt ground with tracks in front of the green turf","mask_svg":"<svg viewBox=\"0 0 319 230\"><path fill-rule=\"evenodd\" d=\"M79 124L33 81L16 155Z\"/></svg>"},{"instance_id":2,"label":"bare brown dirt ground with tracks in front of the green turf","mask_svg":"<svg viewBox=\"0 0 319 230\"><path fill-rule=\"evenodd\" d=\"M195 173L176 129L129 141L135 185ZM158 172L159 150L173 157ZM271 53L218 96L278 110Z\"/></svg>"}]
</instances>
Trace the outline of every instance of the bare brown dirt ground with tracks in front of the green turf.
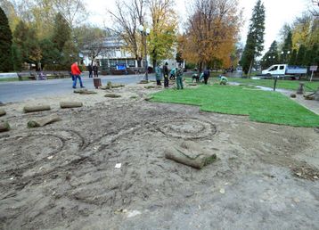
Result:
<instances>
[{"instance_id":1,"label":"bare brown dirt ground with tracks in front of the green turf","mask_svg":"<svg viewBox=\"0 0 319 230\"><path fill-rule=\"evenodd\" d=\"M156 90L2 106L12 130L0 134L0 228L319 229L319 128L144 100ZM85 106L59 109L65 100ZM21 112L37 103L52 111ZM62 120L27 127L52 113ZM199 170L165 159L183 140L217 161Z\"/></svg>"}]
</instances>

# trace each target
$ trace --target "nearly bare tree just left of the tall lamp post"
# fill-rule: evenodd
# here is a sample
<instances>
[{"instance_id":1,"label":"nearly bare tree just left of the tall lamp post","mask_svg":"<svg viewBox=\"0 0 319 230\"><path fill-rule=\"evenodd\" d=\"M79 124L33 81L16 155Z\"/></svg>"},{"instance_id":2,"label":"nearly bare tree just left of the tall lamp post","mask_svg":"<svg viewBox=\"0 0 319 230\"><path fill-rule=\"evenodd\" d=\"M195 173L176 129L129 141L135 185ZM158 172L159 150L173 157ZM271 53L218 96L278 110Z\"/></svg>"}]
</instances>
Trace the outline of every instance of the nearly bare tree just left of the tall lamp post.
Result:
<instances>
[{"instance_id":1,"label":"nearly bare tree just left of the tall lamp post","mask_svg":"<svg viewBox=\"0 0 319 230\"><path fill-rule=\"evenodd\" d=\"M137 31L144 24L144 0L118 0L117 10L110 12L114 21L114 31L127 44L127 50L135 55L138 66L143 59L143 37Z\"/></svg>"}]
</instances>

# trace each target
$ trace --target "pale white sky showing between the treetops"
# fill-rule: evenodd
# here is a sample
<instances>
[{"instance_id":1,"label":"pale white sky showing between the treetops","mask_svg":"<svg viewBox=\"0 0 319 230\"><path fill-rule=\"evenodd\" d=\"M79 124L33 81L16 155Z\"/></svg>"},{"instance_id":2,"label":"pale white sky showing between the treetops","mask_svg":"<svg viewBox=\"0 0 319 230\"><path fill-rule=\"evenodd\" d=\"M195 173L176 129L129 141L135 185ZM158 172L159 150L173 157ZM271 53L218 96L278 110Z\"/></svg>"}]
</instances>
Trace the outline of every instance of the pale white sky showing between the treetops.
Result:
<instances>
[{"instance_id":1,"label":"pale white sky showing between the treetops","mask_svg":"<svg viewBox=\"0 0 319 230\"><path fill-rule=\"evenodd\" d=\"M187 17L187 7L185 3L192 0L176 0L176 12L178 12L180 22L183 23ZM257 0L238 0L239 9L243 11L244 24L241 28L241 43L244 45L249 28L249 19L252 9ZM265 50L274 40L279 40L279 32L285 23L292 23L302 12L307 11L307 5L310 0L264 0L266 8L266 30L265 30ZM111 26L110 15L108 10L115 10L115 0L86 0L91 15L89 21L97 26Z\"/></svg>"}]
</instances>

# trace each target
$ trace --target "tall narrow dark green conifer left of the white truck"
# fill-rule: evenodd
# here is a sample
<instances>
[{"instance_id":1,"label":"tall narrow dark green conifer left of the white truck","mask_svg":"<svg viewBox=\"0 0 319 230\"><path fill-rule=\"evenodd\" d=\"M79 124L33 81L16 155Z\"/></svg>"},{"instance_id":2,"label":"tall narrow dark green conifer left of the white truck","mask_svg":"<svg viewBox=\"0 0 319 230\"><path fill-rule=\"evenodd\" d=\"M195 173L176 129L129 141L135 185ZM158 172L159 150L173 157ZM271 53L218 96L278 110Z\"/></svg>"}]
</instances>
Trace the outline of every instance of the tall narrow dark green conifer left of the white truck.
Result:
<instances>
[{"instance_id":1,"label":"tall narrow dark green conifer left of the white truck","mask_svg":"<svg viewBox=\"0 0 319 230\"><path fill-rule=\"evenodd\" d=\"M261 0L257 1L250 19L247 41L241 57L242 70L250 73L255 59L264 50L265 34L265 6Z\"/></svg>"}]
</instances>

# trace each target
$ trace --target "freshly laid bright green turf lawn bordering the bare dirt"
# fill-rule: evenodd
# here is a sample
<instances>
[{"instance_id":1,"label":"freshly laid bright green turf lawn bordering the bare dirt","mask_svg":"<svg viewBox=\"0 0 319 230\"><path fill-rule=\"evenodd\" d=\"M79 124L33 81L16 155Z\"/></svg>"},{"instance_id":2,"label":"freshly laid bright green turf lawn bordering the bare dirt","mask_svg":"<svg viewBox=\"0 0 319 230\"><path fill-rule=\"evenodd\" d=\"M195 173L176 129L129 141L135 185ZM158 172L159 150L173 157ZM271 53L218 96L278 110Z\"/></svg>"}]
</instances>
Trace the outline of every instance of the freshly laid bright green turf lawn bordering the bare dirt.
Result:
<instances>
[{"instance_id":1,"label":"freshly laid bright green turf lawn bordering the bare dirt","mask_svg":"<svg viewBox=\"0 0 319 230\"><path fill-rule=\"evenodd\" d=\"M199 105L201 111L249 115L258 122L319 127L319 116L277 92L244 86L199 86L152 94L151 102Z\"/></svg>"}]
</instances>

